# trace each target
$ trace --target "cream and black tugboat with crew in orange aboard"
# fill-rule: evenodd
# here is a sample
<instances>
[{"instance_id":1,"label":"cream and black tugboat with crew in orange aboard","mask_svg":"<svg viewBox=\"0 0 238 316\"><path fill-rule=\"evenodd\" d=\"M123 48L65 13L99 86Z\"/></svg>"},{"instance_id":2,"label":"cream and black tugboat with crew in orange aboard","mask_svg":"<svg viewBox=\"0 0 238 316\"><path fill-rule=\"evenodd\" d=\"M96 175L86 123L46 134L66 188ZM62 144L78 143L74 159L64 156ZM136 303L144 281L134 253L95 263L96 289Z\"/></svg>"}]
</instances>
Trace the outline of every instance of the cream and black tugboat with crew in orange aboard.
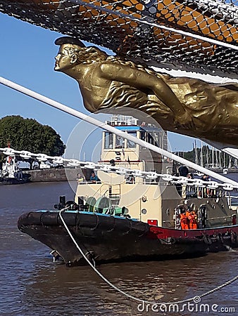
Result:
<instances>
[{"instance_id":1,"label":"cream and black tugboat with crew in orange aboard","mask_svg":"<svg viewBox=\"0 0 238 316\"><path fill-rule=\"evenodd\" d=\"M118 116L108 124L167 149L156 126ZM224 190L154 177L172 173L172 162L108 131L102 133L99 163L97 175L83 169L75 201L62 196L56 209L18 219L19 230L49 246L54 258L66 265L84 265L82 253L95 264L163 260L238 246L237 211ZM115 173L105 173L107 165ZM123 168L131 173L125 176Z\"/></svg>"}]
</instances>

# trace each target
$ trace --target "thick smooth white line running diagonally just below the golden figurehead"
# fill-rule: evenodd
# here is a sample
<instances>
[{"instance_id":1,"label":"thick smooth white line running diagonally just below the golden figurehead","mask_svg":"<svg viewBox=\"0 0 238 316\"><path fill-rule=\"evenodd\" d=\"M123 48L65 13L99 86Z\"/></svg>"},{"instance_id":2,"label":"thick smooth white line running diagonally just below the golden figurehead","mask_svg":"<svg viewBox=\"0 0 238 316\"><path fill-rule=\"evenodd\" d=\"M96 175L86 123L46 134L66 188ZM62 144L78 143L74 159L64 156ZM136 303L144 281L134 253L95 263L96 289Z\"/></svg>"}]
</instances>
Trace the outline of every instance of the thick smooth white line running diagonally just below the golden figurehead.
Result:
<instances>
[{"instance_id":1,"label":"thick smooth white line running diagonally just below the golden figurehead","mask_svg":"<svg viewBox=\"0 0 238 316\"><path fill-rule=\"evenodd\" d=\"M58 110L61 110L61 111L66 112L68 114L71 114L74 117L78 117L79 119L83 119L84 121L87 121L88 123L93 124L94 126L98 126L101 129L104 129L104 130L109 131L111 133L115 133L115 135L121 136L127 140L131 140L132 142L134 142L142 147L146 147L149 150L152 150L154 152L157 152L158 154L162 154L165 157L168 157L170 159L175 160L175 162L180 162L180 164L188 166L189 168L200 171L201 173L205 173L208 176L211 176L217 180L220 180L223 183L229 183L230 185L233 185L234 187L237 187L237 185L238 185L238 183L234 180L231 180L229 178L225 178L225 176L221 176L220 174L215 173L215 172L208 170L206 168L203 168L202 166L199 166L198 164L194 164L193 162L189 162L189 160L186 160L182 157L178 157L176 154L173 154L172 152L168 152L167 150L163 150L160 147L156 147L155 145L151 145L149 143L146 143L146 141L141 140L139 138L136 138L136 137L130 135L129 133L125 133L123 131L115 129L115 127L110 126L106 123L103 123L103 122L99 121L98 119L94 119L93 117L89 117L88 115L86 115L82 112L79 112L77 110L74 110L71 107L63 105L62 103L58 103L54 100L51 100L50 98L46 98L45 96L42 96L41 94L36 93L35 91L27 89L23 86L20 86L19 84L15 84L13 81L10 81L8 79L0 77L0 84L4 84L4 86L8 86L9 88L13 88L14 90L19 91L20 93L23 93L27 96L30 96L31 98L35 98L36 100L39 100L43 103L46 103L47 105L50 105L51 107L55 107Z\"/></svg>"}]
</instances>

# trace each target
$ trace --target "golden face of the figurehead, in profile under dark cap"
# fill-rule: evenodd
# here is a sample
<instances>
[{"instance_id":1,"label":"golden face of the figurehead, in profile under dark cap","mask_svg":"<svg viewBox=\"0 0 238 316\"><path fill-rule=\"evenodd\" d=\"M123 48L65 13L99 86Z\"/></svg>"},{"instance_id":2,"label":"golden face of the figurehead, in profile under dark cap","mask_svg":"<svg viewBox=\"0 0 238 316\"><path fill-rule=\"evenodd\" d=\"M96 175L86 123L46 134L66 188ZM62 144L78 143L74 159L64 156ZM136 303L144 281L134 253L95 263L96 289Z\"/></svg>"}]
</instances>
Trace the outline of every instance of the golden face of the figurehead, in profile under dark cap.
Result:
<instances>
[{"instance_id":1,"label":"golden face of the figurehead, in profile under dark cap","mask_svg":"<svg viewBox=\"0 0 238 316\"><path fill-rule=\"evenodd\" d=\"M70 44L61 45L58 51L58 55L55 58L56 64L55 64L54 70L64 71L73 67L75 58L73 55L70 56L69 52L70 52L70 48L72 48L70 46L73 46L73 45L70 45Z\"/></svg>"}]
</instances>

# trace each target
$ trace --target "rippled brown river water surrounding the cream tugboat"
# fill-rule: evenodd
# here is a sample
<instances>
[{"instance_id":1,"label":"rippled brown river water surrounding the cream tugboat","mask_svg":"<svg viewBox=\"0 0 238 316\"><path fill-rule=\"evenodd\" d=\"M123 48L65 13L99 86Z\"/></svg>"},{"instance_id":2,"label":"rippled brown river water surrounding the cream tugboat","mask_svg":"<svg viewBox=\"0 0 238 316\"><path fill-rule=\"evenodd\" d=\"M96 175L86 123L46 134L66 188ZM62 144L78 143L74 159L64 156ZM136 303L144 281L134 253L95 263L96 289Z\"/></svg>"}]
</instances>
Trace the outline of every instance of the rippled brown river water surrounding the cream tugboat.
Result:
<instances>
[{"instance_id":1,"label":"rippled brown river water surrounding the cream tugboat","mask_svg":"<svg viewBox=\"0 0 238 316\"><path fill-rule=\"evenodd\" d=\"M17 220L27 211L52 209L59 195L73 199L74 193L66 182L0 187L0 315L238 315L238 280L201 302L177 304L173 310L168 305L138 306L89 266L53 263L46 246L18 231ZM110 263L98 269L127 294L176 302L236 277L237 258L238 250L175 261Z\"/></svg>"}]
</instances>

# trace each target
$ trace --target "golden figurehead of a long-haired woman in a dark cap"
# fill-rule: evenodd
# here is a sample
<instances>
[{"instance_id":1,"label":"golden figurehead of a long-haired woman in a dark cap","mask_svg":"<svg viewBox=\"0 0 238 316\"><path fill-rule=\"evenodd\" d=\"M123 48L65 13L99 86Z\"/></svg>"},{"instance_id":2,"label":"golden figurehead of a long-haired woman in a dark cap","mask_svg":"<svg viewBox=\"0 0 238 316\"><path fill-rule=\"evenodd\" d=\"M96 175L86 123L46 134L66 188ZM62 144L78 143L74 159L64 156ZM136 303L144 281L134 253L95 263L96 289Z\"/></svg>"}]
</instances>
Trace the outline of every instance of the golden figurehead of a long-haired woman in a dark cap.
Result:
<instances>
[{"instance_id":1,"label":"golden figurehead of a long-haired woman in a dark cap","mask_svg":"<svg viewBox=\"0 0 238 316\"><path fill-rule=\"evenodd\" d=\"M60 49L54 69L77 80L87 110L132 107L165 130L238 145L238 84L158 74L71 37L55 44Z\"/></svg>"}]
</instances>

